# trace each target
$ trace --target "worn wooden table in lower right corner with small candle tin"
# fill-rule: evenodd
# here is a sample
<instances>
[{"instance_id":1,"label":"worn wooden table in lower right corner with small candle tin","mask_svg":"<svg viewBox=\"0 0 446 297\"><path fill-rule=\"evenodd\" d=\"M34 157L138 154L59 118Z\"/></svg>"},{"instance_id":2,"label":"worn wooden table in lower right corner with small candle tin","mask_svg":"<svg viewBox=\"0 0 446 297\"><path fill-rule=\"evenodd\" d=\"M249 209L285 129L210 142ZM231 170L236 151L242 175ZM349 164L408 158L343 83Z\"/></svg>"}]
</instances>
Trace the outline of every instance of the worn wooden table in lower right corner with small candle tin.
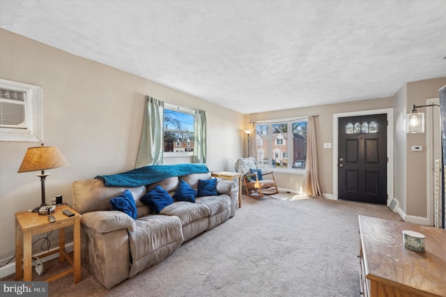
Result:
<instances>
[{"instance_id":1,"label":"worn wooden table in lower right corner with small candle tin","mask_svg":"<svg viewBox=\"0 0 446 297\"><path fill-rule=\"evenodd\" d=\"M359 216L364 296L446 296L446 230ZM425 252L403 245L403 230L426 236Z\"/></svg>"}]
</instances>

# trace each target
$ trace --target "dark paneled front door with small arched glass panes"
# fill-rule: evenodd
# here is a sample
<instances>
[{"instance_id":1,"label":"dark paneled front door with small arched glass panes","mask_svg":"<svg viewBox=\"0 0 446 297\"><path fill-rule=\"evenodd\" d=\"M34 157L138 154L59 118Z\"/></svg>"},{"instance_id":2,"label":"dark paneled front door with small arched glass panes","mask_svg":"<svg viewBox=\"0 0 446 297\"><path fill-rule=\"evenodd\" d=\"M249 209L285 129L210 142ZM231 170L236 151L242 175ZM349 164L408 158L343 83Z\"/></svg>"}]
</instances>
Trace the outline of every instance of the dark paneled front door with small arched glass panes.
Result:
<instances>
[{"instance_id":1,"label":"dark paneled front door with small arched glass panes","mask_svg":"<svg viewBox=\"0 0 446 297\"><path fill-rule=\"evenodd\" d=\"M387 114L338 119L338 198L387 203Z\"/></svg>"}]
</instances>

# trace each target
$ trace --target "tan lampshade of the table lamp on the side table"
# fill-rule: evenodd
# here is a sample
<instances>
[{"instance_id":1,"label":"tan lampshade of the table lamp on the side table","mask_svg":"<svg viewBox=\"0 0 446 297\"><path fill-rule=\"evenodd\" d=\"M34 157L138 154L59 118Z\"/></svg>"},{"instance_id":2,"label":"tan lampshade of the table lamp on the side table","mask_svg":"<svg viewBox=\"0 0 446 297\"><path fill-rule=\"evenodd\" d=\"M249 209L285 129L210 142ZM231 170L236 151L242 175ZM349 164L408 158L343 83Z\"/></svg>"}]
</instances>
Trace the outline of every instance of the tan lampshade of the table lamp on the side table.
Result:
<instances>
[{"instance_id":1,"label":"tan lampshade of the table lamp on the side table","mask_svg":"<svg viewBox=\"0 0 446 297\"><path fill-rule=\"evenodd\" d=\"M28 148L20 165L20 172L36 172L59 167L68 167L70 163L56 146L33 146Z\"/></svg>"}]
</instances>

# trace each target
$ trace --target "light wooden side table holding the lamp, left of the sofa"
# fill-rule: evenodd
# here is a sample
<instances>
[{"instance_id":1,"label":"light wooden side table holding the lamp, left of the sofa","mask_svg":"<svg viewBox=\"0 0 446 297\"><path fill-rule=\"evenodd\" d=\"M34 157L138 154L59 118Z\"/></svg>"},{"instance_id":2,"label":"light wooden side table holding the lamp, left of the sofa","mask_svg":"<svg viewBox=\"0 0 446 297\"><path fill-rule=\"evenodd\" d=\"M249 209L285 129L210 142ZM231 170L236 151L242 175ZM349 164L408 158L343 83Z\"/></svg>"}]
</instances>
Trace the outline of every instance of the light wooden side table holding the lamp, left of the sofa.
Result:
<instances>
[{"instance_id":1,"label":"light wooden side table holding the lamp, left of the sofa","mask_svg":"<svg viewBox=\"0 0 446 297\"><path fill-rule=\"evenodd\" d=\"M68 209L75 215L68 217L62 213L63 209ZM42 254L40 257L59 252L59 262L67 260L72 267L49 277L45 282L56 280L68 273L74 274L75 284L81 281L81 215L69 206L57 206L51 215L54 215L56 222L50 223L47 215L39 215L31 211L15 213L15 280L20 280L22 277L24 282L32 280L32 236L57 229L59 230L59 249ZM73 226L73 257L70 257L65 250L65 227L69 226Z\"/></svg>"}]
</instances>

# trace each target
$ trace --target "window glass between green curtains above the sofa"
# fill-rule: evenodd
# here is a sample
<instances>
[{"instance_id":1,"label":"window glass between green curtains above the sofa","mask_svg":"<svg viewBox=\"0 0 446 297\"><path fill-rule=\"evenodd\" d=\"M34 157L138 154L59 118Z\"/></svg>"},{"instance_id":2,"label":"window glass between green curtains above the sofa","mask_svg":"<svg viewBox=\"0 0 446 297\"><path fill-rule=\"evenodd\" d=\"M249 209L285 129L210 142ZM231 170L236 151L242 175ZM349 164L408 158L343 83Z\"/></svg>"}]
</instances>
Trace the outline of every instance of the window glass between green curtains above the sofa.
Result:
<instances>
[{"instance_id":1,"label":"window glass between green curtains above the sofa","mask_svg":"<svg viewBox=\"0 0 446 297\"><path fill-rule=\"evenodd\" d=\"M194 151L194 116L164 109L164 152Z\"/></svg>"}]
</instances>

